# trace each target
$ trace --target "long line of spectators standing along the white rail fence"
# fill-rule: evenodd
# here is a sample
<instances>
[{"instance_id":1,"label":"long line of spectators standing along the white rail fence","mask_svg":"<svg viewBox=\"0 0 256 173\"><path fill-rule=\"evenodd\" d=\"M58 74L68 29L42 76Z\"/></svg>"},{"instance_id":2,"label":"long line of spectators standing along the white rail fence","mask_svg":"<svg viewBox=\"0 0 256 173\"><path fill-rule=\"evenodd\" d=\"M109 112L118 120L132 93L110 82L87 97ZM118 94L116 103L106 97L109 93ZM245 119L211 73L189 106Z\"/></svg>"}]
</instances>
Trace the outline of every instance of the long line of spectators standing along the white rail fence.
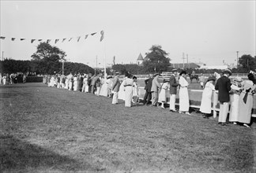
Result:
<instances>
[{"instance_id":1,"label":"long line of spectators standing along the white rail fence","mask_svg":"<svg viewBox=\"0 0 256 173\"><path fill-rule=\"evenodd\" d=\"M179 74L179 75L178 75ZM194 75L192 73L192 75ZM226 126L229 122L250 127L253 95L256 90L256 75L253 72L248 74L248 79L243 80L229 77L232 72L224 70L223 74L214 73L208 79L201 74L199 82L203 89L200 112L204 118L212 116L212 94L218 91L218 101L220 112L218 123ZM190 83L186 81L186 71L179 72L172 70L169 79L159 82L160 74L149 74L149 79L145 79L145 95L143 105L166 109L167 94L170 96L169 111L179 112L190 115L189 94L187 87ZM81 91L112 98L112 104L119 104L119 99L125 101L125 107L132 107L139 104L139 90L137 77L126 72L125 77L120 79L119 72L113 76L107 76L104 80L103 75L78 74L78 75L46 75L44 82L48 86L55 86L66 90ZM216 84L215 84L216 83ZM214 85L215 84L215 85ZM179 110L175 108L176 94L179 94ZM230 110L229 110L229 105ZM229 111L229 120L228 118Z\"/></svg>"}]
</instances>

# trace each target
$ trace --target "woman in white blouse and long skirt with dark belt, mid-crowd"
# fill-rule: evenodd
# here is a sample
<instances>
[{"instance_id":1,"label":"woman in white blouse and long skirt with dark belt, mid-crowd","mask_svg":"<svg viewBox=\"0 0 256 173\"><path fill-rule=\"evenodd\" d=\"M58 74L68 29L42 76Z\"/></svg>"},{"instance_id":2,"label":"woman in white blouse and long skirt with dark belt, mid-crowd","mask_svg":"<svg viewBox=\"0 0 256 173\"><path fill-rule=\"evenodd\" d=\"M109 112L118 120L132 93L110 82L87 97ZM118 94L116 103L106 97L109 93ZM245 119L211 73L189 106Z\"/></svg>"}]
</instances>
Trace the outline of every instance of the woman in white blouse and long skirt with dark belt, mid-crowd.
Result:
<instances>
[{"instance_id":1,"label":"woman in white blouse and long skirt with dark belt, mid-crowd","mask_svg":"<svg viewBox=\"0 0 256 173\"><path fill-rule=\"evenodd\" d=\"M125 106L131 107L131 101L133 98L133 85L134 79L131 79L131 75L126 73L126 79L123 80L122 85L124 86L125 91Z\"/></svg>"}]
</instances>

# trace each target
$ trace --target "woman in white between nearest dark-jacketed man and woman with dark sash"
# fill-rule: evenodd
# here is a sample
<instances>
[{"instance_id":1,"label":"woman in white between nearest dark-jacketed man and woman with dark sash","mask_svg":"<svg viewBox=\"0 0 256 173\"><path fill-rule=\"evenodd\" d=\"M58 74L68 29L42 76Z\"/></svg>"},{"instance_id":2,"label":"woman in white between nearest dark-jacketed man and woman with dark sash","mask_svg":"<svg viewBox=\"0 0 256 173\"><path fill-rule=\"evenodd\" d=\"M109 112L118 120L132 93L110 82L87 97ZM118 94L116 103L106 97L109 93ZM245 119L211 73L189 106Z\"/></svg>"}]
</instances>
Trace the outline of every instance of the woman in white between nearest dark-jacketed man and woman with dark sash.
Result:
<instances>
[{"instance_id":1,"label":"woman in white between nearest dark-jacketed man and woman with dark sash","mask_svg":"<svg viewBox=\"0 0 256 173\"><path fill-rule=\"evenodd\" d=\"M229 112L229 121L236 124L238 122L239 116L239 98L242 92L243 79L240 77L235 77L232 81L232 94L230 95L230 112Z\"/></svg>"}]
</instances>

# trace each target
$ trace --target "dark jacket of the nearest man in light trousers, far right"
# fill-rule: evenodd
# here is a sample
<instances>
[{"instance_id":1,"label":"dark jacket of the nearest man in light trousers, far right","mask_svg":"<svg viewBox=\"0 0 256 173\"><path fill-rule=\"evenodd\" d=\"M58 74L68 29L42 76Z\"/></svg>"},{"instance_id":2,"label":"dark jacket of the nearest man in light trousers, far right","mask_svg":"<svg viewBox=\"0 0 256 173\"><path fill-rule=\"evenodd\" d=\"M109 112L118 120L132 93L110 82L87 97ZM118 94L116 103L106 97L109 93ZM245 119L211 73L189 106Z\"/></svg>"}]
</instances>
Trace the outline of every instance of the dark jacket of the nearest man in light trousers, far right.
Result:
<instances>
[{"instance_id":1,"label":"dark jacket of the nearest man in light trousers, far right","mask_svg":"<svg viewBox=\"0 0 256 173\"><path fill-rule=\"evenodd\" d=\"M229 91L231 90L231 82L227 76L223 75L217 80L215 90L219 90L218 100L220 102L230 101Z\"/></svg>"}]
</instances>

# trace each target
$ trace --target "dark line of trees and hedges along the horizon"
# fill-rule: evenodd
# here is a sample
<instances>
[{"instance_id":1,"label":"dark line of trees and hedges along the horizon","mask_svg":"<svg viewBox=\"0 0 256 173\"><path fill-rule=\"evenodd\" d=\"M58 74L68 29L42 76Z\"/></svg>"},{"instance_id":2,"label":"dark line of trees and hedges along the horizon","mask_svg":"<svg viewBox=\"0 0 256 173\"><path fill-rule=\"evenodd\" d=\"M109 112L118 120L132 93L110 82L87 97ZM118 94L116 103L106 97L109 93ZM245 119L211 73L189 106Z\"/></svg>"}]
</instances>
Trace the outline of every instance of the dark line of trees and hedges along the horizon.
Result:
<instances>
[{"instance_id":1,"label":"dark line of trees and hedges along the horizon","mask_svg":"<svg viewBox=\"0 0 256 173\"><path fill-rule=\"evenodd\" d=\"M141 65L138 64L114 64L112 68L107 68L107 74L113 75L114 72L130 72L134 75L145 75L155 72L171 72L171 63L168 53L162 50L159 45L153 45L148 53L145 53L145 59ZM62 61L64 61L64 75L77 73L100 73L100 69L93 69L86 64L73 63L66 61L66 53L56 46L51 46L47 42L40 42L36 46L36 53L32 54L31 61L20 61L7 58L0 61L1 73L17 73L17 72L36 72L36 74L54 75L62 74ZM180 69L181 70L181 69ZM233 73L247 73L250 70L256 71L256 57L251 55L243 55L239 57L238 68L233 68ZM187 72L195 71L196 73L213 73L221 72L219 69L186 69Z\"/></svg>"}]
</instances>

